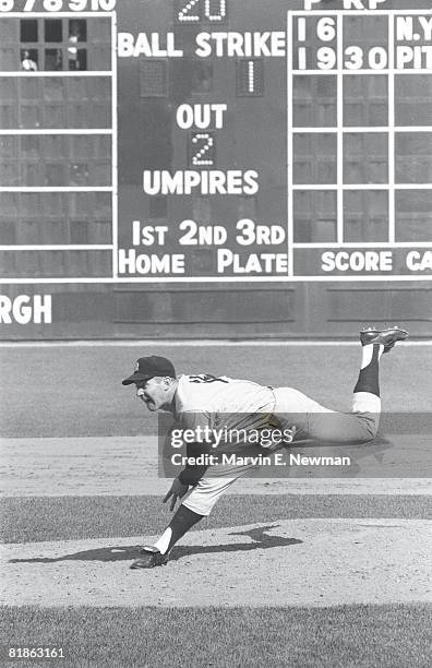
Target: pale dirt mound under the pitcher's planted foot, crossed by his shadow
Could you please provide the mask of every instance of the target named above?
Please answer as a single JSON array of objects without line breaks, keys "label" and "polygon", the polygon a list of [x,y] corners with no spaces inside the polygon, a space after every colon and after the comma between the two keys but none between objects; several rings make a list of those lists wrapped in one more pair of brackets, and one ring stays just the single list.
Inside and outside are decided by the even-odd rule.
[{"label": "pale dirt mound under the pitcher's planted foot, crossed by his shadow", "polygon": [[[431,523],[291,520],[194,532],[172,561],[131,571],[154,537],[8,545],[13,606],[332,606],[431,600]],[[407,558],[409,556],[409,558]]]}]

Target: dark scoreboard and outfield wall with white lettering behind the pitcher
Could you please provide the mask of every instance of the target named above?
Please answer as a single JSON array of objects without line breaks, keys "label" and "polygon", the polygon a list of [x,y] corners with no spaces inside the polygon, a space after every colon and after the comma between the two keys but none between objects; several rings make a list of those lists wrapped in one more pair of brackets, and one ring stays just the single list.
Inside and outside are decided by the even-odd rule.
[{"label": "dark scoreboard and outfield wall with white lettering behind the pitcher", "polygon": [[0,1],[0,337],[430,335],[407,4]]}]

